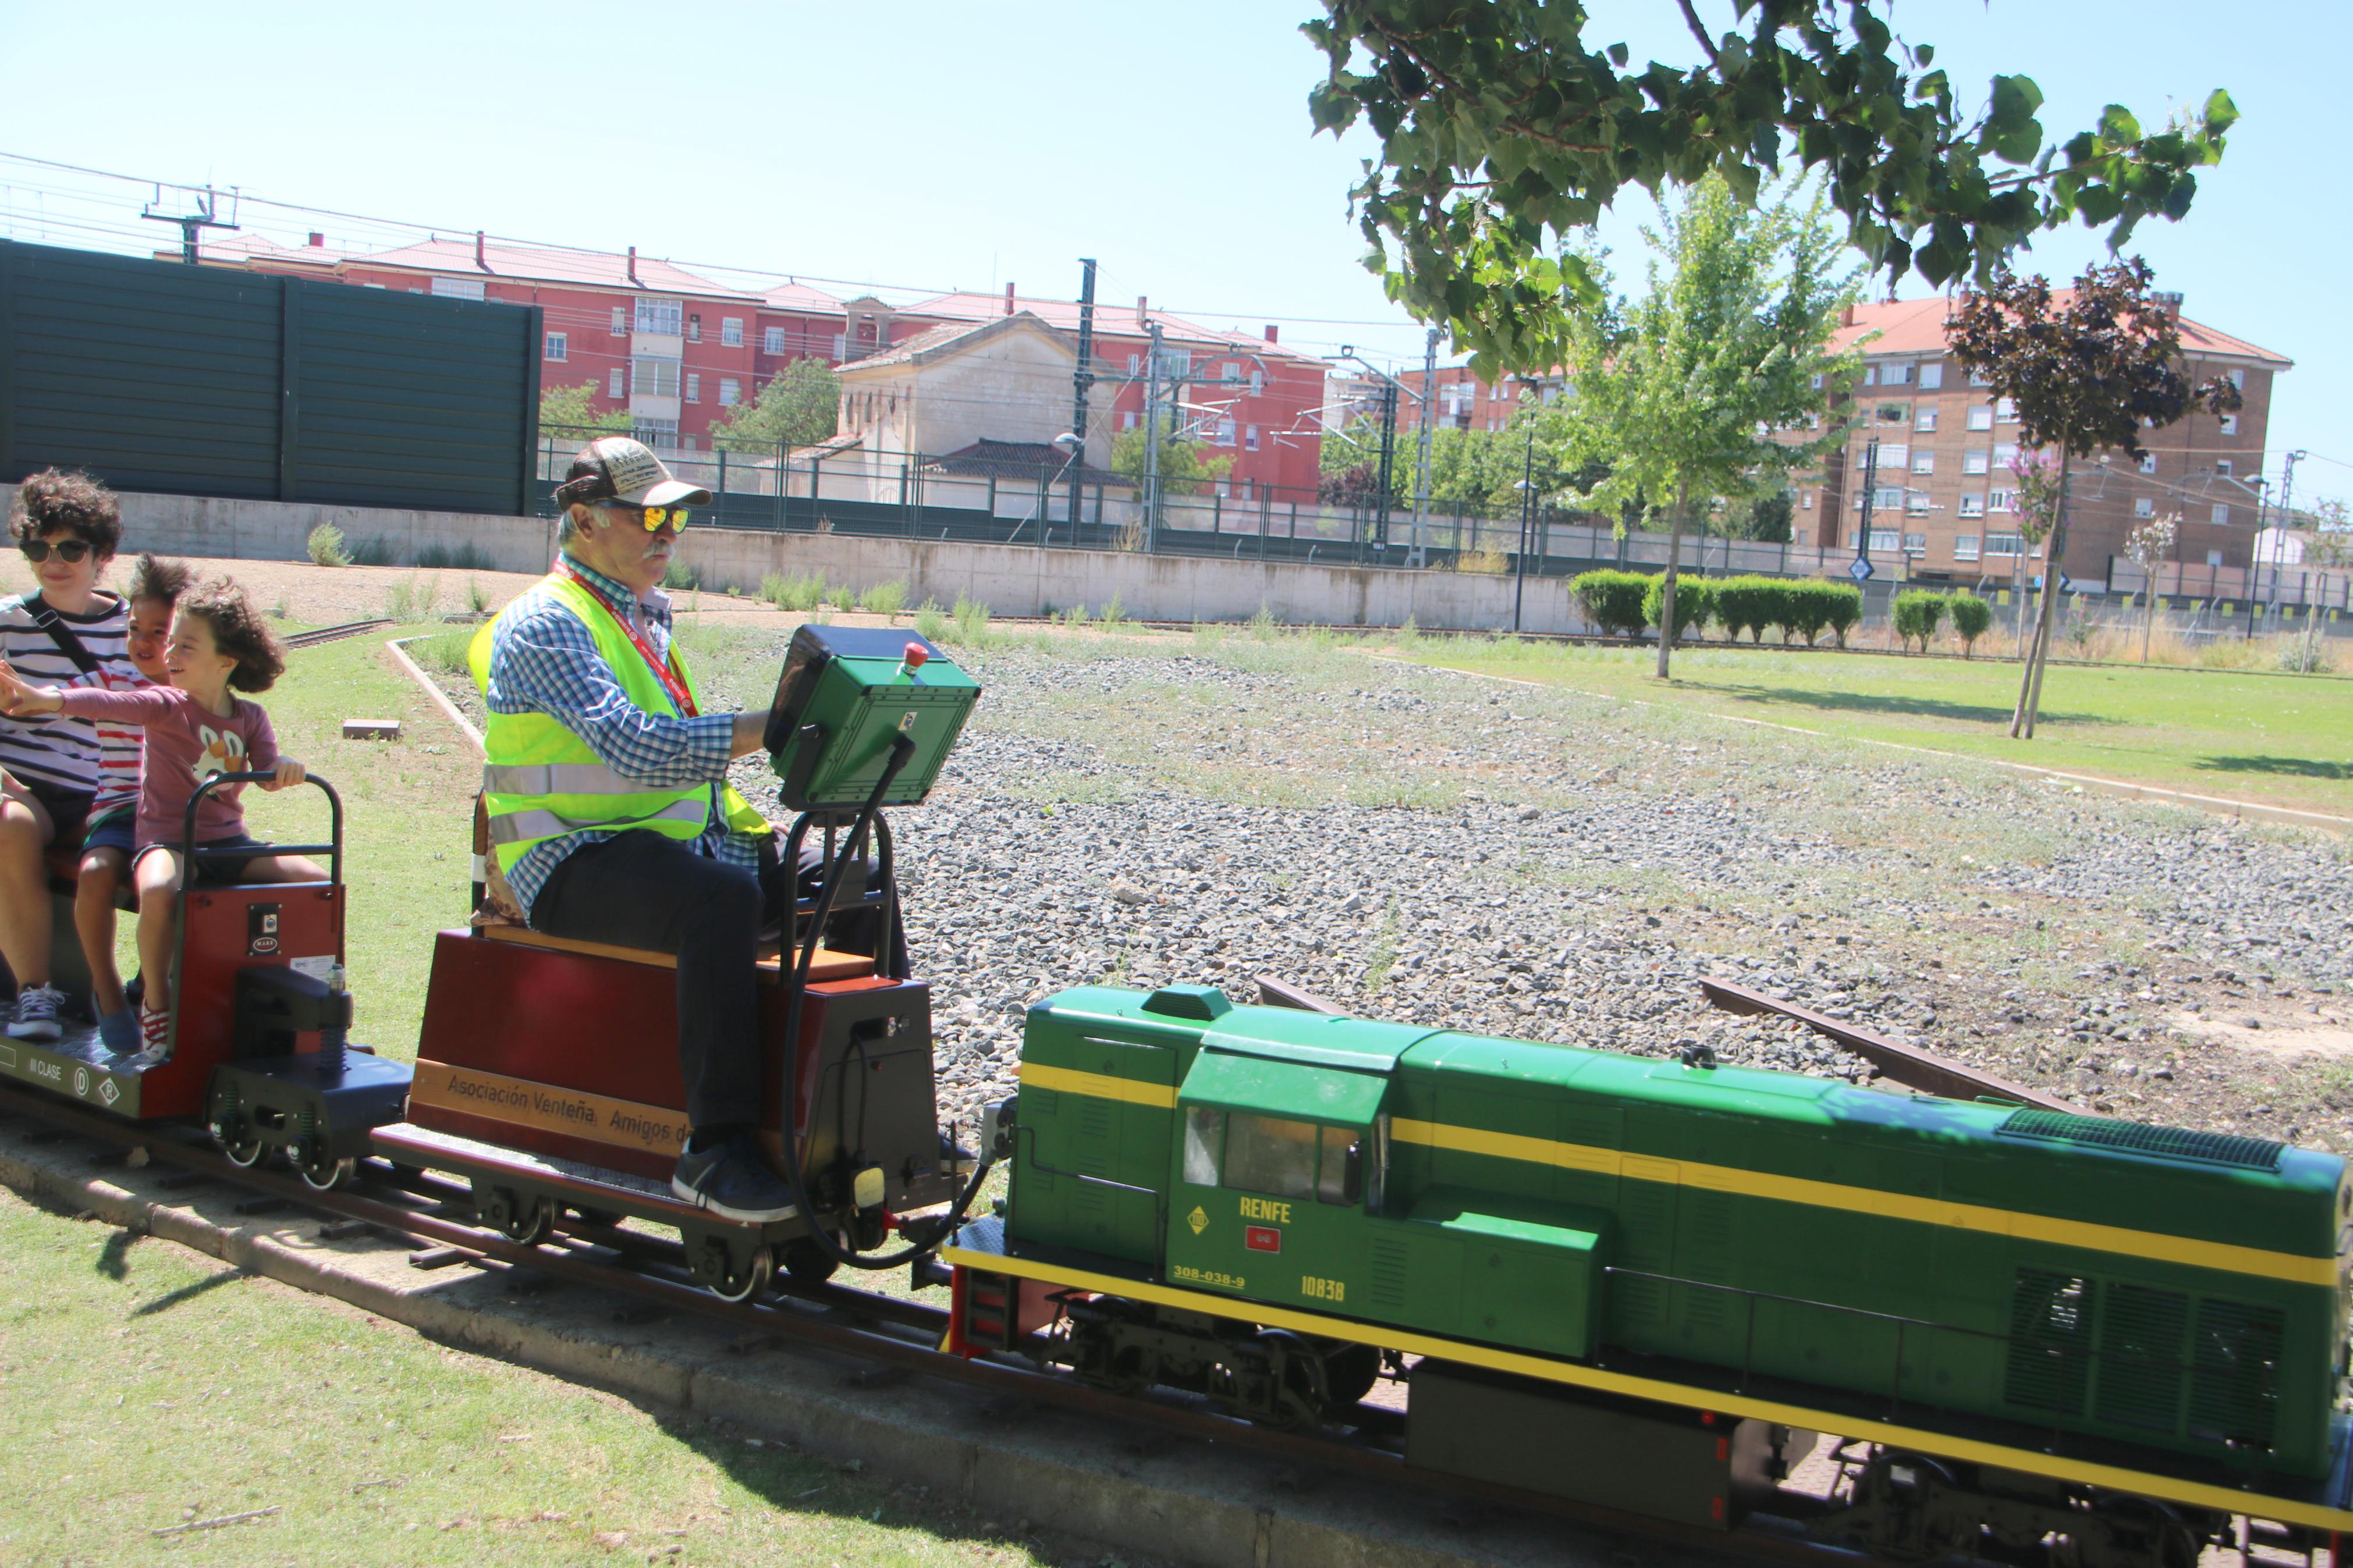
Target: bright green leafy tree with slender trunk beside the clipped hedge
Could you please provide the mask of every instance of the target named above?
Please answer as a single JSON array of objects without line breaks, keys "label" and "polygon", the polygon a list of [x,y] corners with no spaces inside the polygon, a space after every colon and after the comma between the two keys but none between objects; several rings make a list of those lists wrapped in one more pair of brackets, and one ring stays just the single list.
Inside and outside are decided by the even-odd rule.
[{"label": "bright green leafy tree with slender trunk beside the clipped hedge", "polygon": [[[1673,618],[1694,498],[1774,491],[1793,470],[1819,465],[1845,433],[1800,435],[1861,357],[1828,346],[1854,280],[1835,266],[1838,237],[1819,197],[1751,209],[1708,174],[1645,240],[1649,294],[1577,317],[1577,395],[1565,421],[1579,449],[1609,454],[1588,503],[1617,512],[1668,501],[1659,590]],[[1673,646],[1659,639],[1659,679]]]}]

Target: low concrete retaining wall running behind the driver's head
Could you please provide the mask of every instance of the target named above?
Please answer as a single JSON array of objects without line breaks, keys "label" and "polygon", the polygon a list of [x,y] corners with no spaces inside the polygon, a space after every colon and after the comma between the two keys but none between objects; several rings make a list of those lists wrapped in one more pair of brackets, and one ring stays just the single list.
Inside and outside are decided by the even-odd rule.
[{"label": "low concrete retaining wall running behind the driver's head", "polygon": [[[14,489],[7,489],[14,498]],[[541,571],[555,555],[544,517],[471,512],[388,512],[287,501],[122,496],[122,550],[304,559],[311,529],[332,522],[348,543],[381,538],[395,562],[426,548],[473,545],[501,571]],[[1294,625],[1402,625],[1499,630],[1511,625],[1513,581],[1457,571],[1395,571],[1297,562],[1129,555],[864,534],[755,534],[694,527],[680,559],[713,588],[758,592],[769,571],[824,571],[868,588],[904,581],[906,602],[955,604],[969,595],[1000,616],[1040,616],[1113,597],[1136,621],[1249,621],[1266,609]],[[1522,625],[1532,632],[1591,630],[1574,614],[1567,583],[1529,578]]]}]

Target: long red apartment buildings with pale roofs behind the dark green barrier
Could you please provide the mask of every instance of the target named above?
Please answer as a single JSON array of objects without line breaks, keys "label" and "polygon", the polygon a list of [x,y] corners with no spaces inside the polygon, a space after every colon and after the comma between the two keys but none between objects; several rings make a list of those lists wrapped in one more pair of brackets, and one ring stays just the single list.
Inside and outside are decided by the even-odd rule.
[{"label": "long red apartment buildings with pale roofs behind the dark green barrier", "polygon": [[[176,259],[176,252],[158,252]],[[788,282],[746,294],[668,261],[558,247],[494,244],[480,235],[426,240],[391,252],[275,244],[259,235],[205,242],[207,266],[325,277],[369,289],[539,306],[546,317],[541,386],[591,388],[591,409],[626,411],[640,437],[664,449],[708,449],[711,425],[793,360],[845,364],[946,322],[1031,310],[1075,339],[1078,306],[998,294],[941,294],[894,308],[835,299]],[[1162,376],[1186,376],[1184,414],[1195,440],[1233,456],[1224,489],[1313,494],[1322,451],[1318,409],[1325,362],[1264,336],[1200,327],[1167,310],[1096,306],[1089,400],[1096,433],[1134,428],[1144,409],[1148,324],[1160,324]],[[1071,388],[1040,388],[1068,414]],[[936,454],[934,454],[936,456]]]}]

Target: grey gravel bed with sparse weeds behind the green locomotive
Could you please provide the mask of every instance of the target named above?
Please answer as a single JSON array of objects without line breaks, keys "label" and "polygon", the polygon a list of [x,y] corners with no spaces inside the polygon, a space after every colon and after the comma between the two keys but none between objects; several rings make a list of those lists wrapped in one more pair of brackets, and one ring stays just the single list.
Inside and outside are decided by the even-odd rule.
[{"label": "grey gravel bed with sparse weeds behind the green locomotive", "polygon": [[[779,651],[746,637],[729,689],[765,696]],[[955,656],[981,710],[894,813],[948,1114],[1012,1088],[1045,994],[1254,1001],[1259,973],[1374,1018],[1873,1081],[1713,1011],[1694,980],[1725,976],[2085,1110],[2353,1147],[2353,898],[2322,835],[1329,639]],[[779,811],[765,759],[736,780]]]}]

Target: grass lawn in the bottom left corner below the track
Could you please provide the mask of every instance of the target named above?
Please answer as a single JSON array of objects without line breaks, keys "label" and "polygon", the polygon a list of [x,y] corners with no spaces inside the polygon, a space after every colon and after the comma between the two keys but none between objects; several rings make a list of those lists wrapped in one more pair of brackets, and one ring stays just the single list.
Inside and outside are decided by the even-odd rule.
[{"label": "grass lawn in the bottom left corner below the track", "polygon": [[7,1192],[0,1387],[5,1563],[1045,1561],[871,1476]]}]

